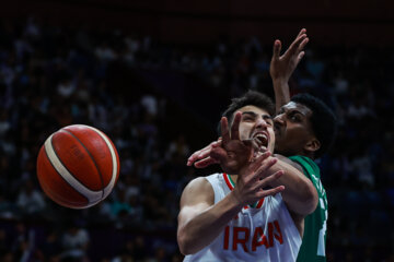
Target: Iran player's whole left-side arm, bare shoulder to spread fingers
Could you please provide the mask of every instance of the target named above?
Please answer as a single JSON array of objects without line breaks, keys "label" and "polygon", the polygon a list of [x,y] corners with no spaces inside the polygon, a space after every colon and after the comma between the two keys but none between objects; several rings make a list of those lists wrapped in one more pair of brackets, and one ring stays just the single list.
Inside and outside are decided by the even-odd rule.
[{"label": "Iran player's whole left-side arm, bare shoulder to spread fingers", "polygon": [[262,189],[282,175],[281,171],[267,171],[276,162],[265,160],[268,156],[269,154],[262,155],[245,167],[234,190],[216,204],[213,189],[205,178],[197,178],[185,188],[181,198],[177,228],[177,241],[183,254],[196,253],[212,242],[247,203],[285,189]]}]

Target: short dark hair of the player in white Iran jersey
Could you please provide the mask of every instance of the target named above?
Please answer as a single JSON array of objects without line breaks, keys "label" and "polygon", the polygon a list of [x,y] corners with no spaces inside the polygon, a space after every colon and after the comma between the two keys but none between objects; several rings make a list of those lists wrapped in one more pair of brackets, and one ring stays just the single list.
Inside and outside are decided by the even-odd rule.
[{"label": "short dark hair of the player in white Iran jersey", "polygon": [[[247,91],[243,96],[231,99],[231,104],[222,114],[222,117],[227,117],[229,123],[231,123],[234,112],[244,106],[255,106],[262,108],[270,116],[274,116],[275,114],[275,104],[271,98],[256,91]],[[220,121],[218,124],[218,133],[221,135]]]}]

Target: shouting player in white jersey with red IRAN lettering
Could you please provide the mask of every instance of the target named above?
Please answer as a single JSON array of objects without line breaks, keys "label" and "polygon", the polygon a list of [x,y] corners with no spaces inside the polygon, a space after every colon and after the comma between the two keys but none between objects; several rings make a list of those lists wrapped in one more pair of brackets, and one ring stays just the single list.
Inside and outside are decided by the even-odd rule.
[{"label": "shouting player in white jersey with red IRAN lettering", "polygon": [[222,140],[210,153],[227,172],[193,180],[181,198],[185,261],[296,261],[317,194],[299,170],[270,156],[273,112],[267,96],[248,92],[223,114]]}]

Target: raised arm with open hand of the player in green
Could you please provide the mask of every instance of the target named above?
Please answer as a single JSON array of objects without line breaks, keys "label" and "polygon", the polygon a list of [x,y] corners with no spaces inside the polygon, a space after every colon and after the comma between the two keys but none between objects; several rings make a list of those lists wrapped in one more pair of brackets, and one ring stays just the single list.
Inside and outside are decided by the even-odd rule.
[{"label": "raised arm with open hand of the player in green", "polygon": [[277,111],[290,100],[289,79],[305,55],[303,49],[308,41],[306,29],[302,28],[282,56],[280,56],[281,41],[277,39],[274,43],[269,74],[273,79]]}]

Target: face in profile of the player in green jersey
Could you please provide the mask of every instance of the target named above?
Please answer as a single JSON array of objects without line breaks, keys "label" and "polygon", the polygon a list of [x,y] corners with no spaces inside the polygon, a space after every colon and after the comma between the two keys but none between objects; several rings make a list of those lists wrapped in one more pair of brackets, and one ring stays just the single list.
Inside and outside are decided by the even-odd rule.
[{"label": "face in profile of the player in green jersey", "polygon": [[310,117],[312,110],[290,102],[280,108],[274,118],[275,151],[285,156],[302,154],[313,135]]}]

